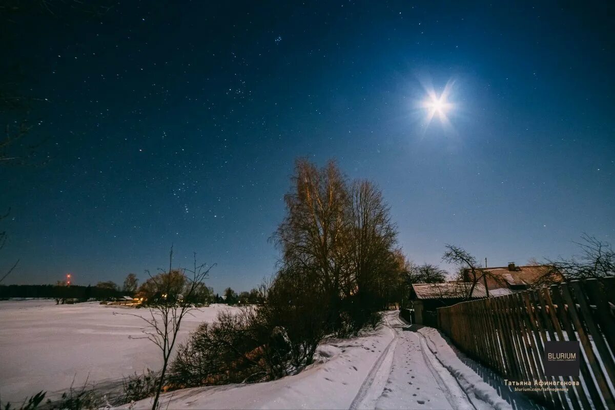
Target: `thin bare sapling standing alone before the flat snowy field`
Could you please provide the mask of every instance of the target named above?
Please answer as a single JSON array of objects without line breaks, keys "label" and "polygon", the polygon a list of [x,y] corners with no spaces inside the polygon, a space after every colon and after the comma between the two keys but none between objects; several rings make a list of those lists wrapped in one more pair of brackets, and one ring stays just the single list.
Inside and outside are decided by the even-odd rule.
[{"label": "thin bare sapling standing alone before the flat snowy field", "polygon": [[[165,376],[169,359],[173,352],[177,335],[180,331],[181,321],[190,314],[192,310],[198,310],[192,304],[194,294],[200,288],[210,270],[216,266],[213,264],[197,264],[196,253],[194,254],[194,267],[192,269],[182,268],[173,269],[173,247],[169,252],[169,271],[167,273],[152,276],[151,280],[156,288],[159,297],[149,302],[149,315],[141,316],[133,313],[117,313],[136,316],[145,321],[146,326],[142,329],[143,339],[153,342],[162,353],[162,370],[156,388],[156,396],[152,404],[152,410],[158,408],[158,401],[162,387],[164,387]],[[149,272],[148,272],[149,274]],[[181,275],[181,280],[178,280]]]}]

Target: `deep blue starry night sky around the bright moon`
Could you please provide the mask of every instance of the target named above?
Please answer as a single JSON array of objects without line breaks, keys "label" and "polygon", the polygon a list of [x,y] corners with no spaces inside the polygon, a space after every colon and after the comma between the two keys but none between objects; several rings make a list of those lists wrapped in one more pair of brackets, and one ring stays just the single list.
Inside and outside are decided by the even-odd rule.
[{"label": "deep blue starry night sky around the bright moon", "polygon": [[[218,4],[221,3],[221,4]],[[463,3],[463,4],[461,4]],[[611,6],[554,2],[118,2],[8,26],[38,98],[41,166],[2,167],[6,283],[121,283],[216,262],[275,271],[293,161],[379,184],[416,262],[490,266],[615,237]],[[16,68],[17,69],[17,68]],[[427,121],[448,84],[446,119]]]}]

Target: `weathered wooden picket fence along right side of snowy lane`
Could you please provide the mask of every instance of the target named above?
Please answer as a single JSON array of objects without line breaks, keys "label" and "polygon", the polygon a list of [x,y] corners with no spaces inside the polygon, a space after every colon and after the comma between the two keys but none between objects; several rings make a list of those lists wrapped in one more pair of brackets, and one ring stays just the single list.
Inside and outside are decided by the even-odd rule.
[{"label": "weathered wooden picket fence along right side of snowy lane", "polygon": [[[470,357],[555,409],[615,409],[615,278],[573,280],[542,290],[437,309],[438,327]],[[579,341],[579,377],[545,376],[544,342]],[[563,385],[561,385],[563,384]],[[578,384],[578,385],[576,385]],[[568,388],[567,391],[554,391]]]}]

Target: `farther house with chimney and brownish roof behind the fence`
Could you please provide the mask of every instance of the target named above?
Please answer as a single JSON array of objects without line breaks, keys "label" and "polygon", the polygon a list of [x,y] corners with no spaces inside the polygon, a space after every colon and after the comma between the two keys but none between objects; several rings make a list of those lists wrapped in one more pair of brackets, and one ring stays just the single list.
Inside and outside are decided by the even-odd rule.
[{"label": "farther house with chimney and brownish roof behind the fence", "polygon": [[[483,281],[486,280],[489,296],[502,296],[527,290],[546,272],[554,275],[554,280],[558,282],[563,280],[561,274],[554,273],[552,267],[548,265],[516,266],[515,262],[510,262],[508,266],[484,267],[477,270],[480,270],[481,274],[485,270],[490,272],[490,275],[480,279],[480,283],[483,283],[483,285]],[[470,269],[464,269],[463,275],[465,282],[472,282]]]}]

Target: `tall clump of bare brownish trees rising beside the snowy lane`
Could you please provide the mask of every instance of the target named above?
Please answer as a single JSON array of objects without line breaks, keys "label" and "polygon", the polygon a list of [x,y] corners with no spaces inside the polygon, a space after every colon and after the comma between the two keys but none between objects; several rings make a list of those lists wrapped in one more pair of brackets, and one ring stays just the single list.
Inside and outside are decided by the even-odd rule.
[{"label": "tall clump of bare brownish trees rising beside the snowy lane", "polygon": [[282,251],[273,287],[309,283],[313,300],[326,301],[333,329],[397,298],[397,230],[375,184],[349,184],[335,162],[318,168],[306,159],[296,160],[292,184],[272,237]]}]

